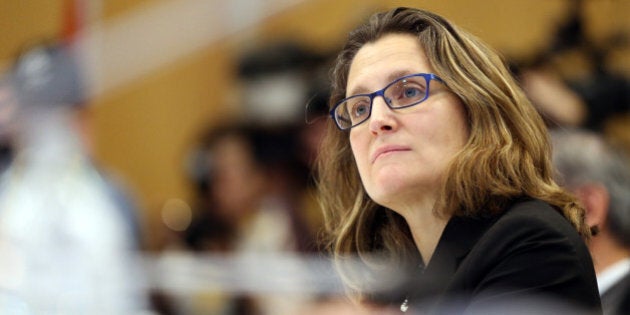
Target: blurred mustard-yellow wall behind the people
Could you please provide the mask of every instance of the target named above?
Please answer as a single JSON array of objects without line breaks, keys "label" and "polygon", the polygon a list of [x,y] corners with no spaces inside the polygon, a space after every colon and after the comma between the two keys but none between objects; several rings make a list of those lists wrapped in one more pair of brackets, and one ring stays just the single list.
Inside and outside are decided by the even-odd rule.
[{"label": "blurred mustard-yellow wall behind the people", "polygon": [[[254,0],[252,0],[254,1]],[[105,0],[111,20],[154,0]],[[586,1],[589,32],[602,37],[630,30],[628,0]],[[0,66],[25,41],[52,36],[61,29],[64,1],[0,1]],[[217,3],[221,3],[218,1]],[[232,71],[240,49],[278,38],[293,38],[317,50],[336,49],[373,8],[420,5],[452,19],[510,56],[527,56],[543,47],[566,14],[564,0],[311,0],[273,18],[173,60],[111,93],[91,108],[97,160],[137,192],[148,217],[169,198],[186,199],[185,150],[207,124],[237,112],[230,102]],[[159,52],[156,52],[159,53]],[[619,53],[619,69],[630,73],[628,54]]]}]

